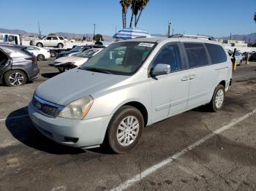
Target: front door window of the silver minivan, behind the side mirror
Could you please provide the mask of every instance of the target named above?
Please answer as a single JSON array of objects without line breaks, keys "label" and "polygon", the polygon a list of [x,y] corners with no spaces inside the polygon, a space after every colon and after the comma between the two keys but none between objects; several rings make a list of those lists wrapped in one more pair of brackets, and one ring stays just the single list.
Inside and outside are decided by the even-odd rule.
[{"label": "front door window of the silver minivan, behind the side mirror", "polygon": [[162,50],[160,50],[157,57],[154,59],[152,67],[154,68],[154,66],[157,66],[159,63],[170,65],[171,71],[185,69],[181,62],[181,54],[177,44],[166,45]]}]

